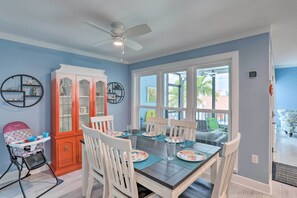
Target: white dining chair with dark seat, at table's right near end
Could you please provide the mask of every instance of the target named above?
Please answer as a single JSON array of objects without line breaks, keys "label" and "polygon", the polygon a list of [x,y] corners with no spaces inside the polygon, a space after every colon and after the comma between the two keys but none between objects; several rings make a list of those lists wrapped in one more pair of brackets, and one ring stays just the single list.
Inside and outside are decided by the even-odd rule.
[{"label": "white dining chair with dark seat, at table's right near end", "polygon": [[229,185],[231,183],[234,163],[236,160],[238,146],[240,143],[240,133],[237,137],[224,144],[222,159],[214,185],[203,179],[196,180],[189,188],[183,192],[179,198],[226,198],[229,197]]}]

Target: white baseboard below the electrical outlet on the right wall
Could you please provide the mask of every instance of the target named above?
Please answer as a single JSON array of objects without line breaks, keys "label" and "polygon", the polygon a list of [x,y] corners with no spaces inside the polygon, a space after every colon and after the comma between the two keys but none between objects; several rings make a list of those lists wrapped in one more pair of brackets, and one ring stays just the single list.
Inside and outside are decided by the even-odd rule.
[{"label": "white baseboard below the electrical outlet on the right wall", "polygon": [[236,183],[238,185],[253,189],[255,191],[258,192],[262,192],[265,193],[267,195],[271,195],[271,185],[269,184],[265,184],[262,182],[258,182],[256,180],[247,178],[247,177],[243,177],[237,174],[233,174],[232,176],[232,182]]}]

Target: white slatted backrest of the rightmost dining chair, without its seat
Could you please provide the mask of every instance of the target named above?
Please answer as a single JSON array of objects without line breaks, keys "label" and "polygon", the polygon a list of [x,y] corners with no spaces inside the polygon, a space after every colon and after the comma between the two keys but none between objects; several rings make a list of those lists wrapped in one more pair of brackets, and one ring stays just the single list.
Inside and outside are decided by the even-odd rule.
[{"label": "white slatted backrest of the rightmost dining chair, without its seat", "polygon": [[240,138],[241,135],[238,133],[234,140],[225,143],[223,146],[221,164],[211,195],[212,198],[224,197],[228,193]]}]

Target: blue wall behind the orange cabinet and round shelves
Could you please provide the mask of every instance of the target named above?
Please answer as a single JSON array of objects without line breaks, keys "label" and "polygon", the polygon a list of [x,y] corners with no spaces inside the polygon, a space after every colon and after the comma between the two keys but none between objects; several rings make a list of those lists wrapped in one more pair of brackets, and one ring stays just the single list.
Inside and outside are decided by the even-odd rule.
[{"label": "blue wall behind the orange cabinet and round shelves", "polygon": [[[34,134],[51,130],[50,73],[61,63],[103,69],[108,82],[120,82],[130,92],[127,65],[0,39],[0,83],[15,74],[28,74],[40,80],[45,90],[41,102],[30,108],[12,107],[0,98],[0,133],[5,124],[16,120],[26,122]],[[108,104],[108,113],[115,116],[115,128],[118,130],[126,129],[129,121],[129,117],[123,116],[129,112],[128,96],[120,104]],[[0,136],[1,174],[8,167],[9,158],[2,134]],[[46,145],[46,156],[50,160],[50,143]]]}]

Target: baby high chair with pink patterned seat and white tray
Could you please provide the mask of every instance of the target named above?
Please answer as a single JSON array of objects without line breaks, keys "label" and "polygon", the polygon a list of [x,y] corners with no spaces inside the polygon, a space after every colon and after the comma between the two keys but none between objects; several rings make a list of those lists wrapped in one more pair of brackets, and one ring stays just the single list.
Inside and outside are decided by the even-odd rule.
[{"label": "baby high chair with pink patterned seat and white tray", "polygon": [[[57,178],[56,174],[47,163],[44,156],[44,142],[48,141],[50,137],[34,137],[31,133],[30,128],[25,123],[20,121],[6,124],[3,128],[3,136],[8,149],[8,153],[10,155],[10,165],[7,170],[1,175],[0,180],[10,170],[12,164],[17,167],[19,174],[18,180],[1,187],[0,190],[7,186],[10,186],[11,184],[19,182],[22,194],[24,197],[26,197],[21,180],[30,176],[31,170],[40,168],[43,165],[47,165],[49,167],[52,176],[56,179],[56,184],[45,192],[41,193],[38,197],[44,195],[63,182],[63,180]],[[30,137],[31,139],[33,138],[33,140],[34,138],[36,138],[36,140],[28,142],[28,140],[30,140]],[[24,177],[21,177],[24,164],[26,165],[28,172]]]}]

